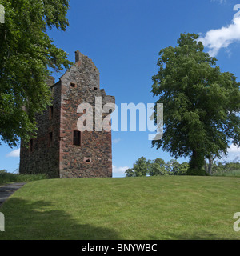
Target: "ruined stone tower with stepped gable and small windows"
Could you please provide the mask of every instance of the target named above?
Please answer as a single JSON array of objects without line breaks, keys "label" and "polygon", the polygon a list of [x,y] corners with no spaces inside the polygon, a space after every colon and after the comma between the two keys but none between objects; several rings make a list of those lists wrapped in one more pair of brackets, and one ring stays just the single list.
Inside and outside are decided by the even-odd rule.
[{"label": "ruined stone tower with stepped gable and small windows", "polygon": [[[53,104],[37,117],[37,138],[30,140],[28,149],[21,146],[20,174],[44,173],[50,178],[112,177],[111,131],[79,131],[78,118],[84,111],[77,110],[80,104],[89,103],[94,116],[96,97],[101,99],[102,106],[114,103],[115,98],[100,90],[99,71],[90,58],[76,51],[75,59],[74,66],[58,82],[54,78],[49,80]],[[101,121],[109,113],[102,114]]]}]

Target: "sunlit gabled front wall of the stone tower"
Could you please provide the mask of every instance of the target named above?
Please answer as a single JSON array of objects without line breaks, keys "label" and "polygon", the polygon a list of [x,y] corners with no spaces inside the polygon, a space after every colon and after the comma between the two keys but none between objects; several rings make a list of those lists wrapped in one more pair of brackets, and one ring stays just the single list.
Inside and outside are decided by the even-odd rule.
[{"label": "sunlit gabled front wall of the stone tower", "polygon": [[81,132],[81,146],[73,145],[73,132],[82,115],[77,113],[78,105],[87,102],[94,108],[96,96],[114,103],[114,97],[100,90],[99,71],[90,58],[76,52],[76,61],[61,78],[60,177],[112,177],[111,132]]}]

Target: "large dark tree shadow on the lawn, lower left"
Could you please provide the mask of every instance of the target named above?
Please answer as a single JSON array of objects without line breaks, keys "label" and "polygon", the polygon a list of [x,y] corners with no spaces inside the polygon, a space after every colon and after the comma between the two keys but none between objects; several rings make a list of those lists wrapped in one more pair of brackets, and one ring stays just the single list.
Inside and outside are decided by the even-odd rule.
[{"label": "large dark tree shadow on the lawn, lower left", "polygon": [[64,210],[51,210],[53,202],[28,202],[10,198],[0,211],[5,214],[5,232],[0,240],[119,240],[114,230],[76,222]]}]

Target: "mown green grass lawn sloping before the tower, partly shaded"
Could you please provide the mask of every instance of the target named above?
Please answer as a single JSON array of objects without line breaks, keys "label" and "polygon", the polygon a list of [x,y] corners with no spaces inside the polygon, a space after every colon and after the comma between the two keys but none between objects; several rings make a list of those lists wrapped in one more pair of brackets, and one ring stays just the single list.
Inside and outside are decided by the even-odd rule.
[{"label": "mown green grass lawn sloping before the tower, partly shaded", "polygon": [[0,208],[0,239],[239,239],[240,178],[28,182]]}]

